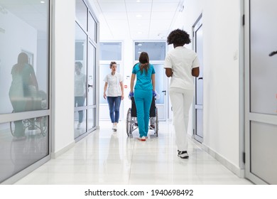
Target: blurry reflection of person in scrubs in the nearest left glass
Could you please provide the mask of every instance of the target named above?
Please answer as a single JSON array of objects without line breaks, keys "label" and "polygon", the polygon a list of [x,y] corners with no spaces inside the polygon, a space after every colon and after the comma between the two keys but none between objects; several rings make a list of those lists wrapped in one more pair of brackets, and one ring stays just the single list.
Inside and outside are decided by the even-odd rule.
[{"label": "blurry reflection of person in scrubs in the nearest left glass", "polygon": [[[9,97],[13,106],[13,112],[25,112],[33,109],[33,99],[38,93],[38,82],[33,67],[28,64],[28,55],[20,53],[18,63],[11,69],[11,87]],[[14,122],[15,139],[24,139],[25,129],[22,121]]]}]

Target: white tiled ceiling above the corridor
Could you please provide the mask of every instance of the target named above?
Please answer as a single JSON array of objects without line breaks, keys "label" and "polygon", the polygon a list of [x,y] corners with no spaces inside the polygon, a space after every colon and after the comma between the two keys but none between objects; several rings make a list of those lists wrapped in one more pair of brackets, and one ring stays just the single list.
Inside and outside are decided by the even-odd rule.
[{"label": "white tiled ceiling above the corridor", "polygon": [[100,41],[165,39],[184,0],[93,0]]}]

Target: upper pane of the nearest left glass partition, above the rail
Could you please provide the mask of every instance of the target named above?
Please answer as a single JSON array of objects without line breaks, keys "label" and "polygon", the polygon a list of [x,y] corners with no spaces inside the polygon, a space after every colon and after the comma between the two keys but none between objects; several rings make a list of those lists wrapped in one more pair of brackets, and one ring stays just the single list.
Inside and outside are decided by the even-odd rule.
[{"label": "upper pane of the nearest left glass partition, above the rail", "polygon": [[48,109],[48,1],[20,12],[9,2],[0,4],[0,114]]}]

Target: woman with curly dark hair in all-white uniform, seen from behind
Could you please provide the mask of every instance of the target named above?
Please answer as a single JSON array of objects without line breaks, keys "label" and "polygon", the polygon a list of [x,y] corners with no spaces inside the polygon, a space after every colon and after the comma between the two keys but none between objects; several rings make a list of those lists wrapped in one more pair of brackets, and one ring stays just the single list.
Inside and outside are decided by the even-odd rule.
[{"label": "woman with curly dark hair in all-white uniform, seen from behind", "polygon": [[174,48],[166,55],[164,68],[165,75],[171,77],[169,95],[178,156],[188,158],[188,117],[194,94],[193,77],[199,75],[199,60],[194,51],[183,46],[190,43],[190,35],[185,31],[172,31],[167,42]]}]

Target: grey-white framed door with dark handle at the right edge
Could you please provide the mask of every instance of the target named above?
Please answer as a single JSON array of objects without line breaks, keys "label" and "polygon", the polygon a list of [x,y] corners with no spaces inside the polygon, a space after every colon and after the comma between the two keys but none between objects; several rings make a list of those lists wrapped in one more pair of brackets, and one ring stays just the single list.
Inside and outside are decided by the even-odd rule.
[{"label": "grey-white framed door with dark handle at the right edge", "polygon": [[277,1],[245,2],[246,178],[277,184]]}]

